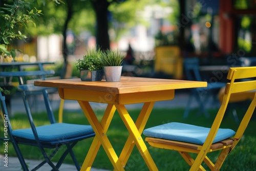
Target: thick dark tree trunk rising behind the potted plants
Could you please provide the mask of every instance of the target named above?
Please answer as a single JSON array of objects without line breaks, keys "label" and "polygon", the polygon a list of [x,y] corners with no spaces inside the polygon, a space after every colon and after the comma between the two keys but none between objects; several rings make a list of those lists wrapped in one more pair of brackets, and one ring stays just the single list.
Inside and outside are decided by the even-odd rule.
[{"label": "thick dark tree trunk rising behind the potted plants", "polygon": [[91,0],[96,14],[96,45],[101,50],[110,49],[107,0]]}]

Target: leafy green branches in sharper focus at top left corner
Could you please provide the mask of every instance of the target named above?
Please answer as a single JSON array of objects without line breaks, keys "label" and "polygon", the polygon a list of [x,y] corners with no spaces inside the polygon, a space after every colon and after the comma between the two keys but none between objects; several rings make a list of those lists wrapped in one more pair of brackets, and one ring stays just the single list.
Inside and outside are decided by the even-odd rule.
[{"label": "leafy green branches in sharper focus at top left corner", "polygon": [[32,23],[35,27],[33,19],[41,15],[41,10],[31,8],[31,2],[22,0],[3,1],[3,3],[1,3],[0,55],[15,59],[15,49],[8,49],[7,46],[14,39],[27,38],[20,28],[26,28],[28,23]]}]

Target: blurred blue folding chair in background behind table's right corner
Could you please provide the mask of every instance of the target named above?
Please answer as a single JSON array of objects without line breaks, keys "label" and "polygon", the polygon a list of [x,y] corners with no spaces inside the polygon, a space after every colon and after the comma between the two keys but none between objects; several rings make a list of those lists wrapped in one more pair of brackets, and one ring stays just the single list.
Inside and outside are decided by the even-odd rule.
[{"label": "blurred blue folding chair in background behind table's right corner", "polygon": [[[198,57],[184,58],[183,64],[184,71],[188,80],[203,81],[199,72]],[[190,111],[191,102],[193,98],[195,98],[199,104],[199,114],[204,113],[205,117],[208,118],[209,113],[205,109],[205,104],[210,98],[212,98],[214,102],[218,102],[217,92],[225,86],[226,83],[224,82],[209,82],[207,88],[190,89],[190,94],[183,117],[187,118]]]}]

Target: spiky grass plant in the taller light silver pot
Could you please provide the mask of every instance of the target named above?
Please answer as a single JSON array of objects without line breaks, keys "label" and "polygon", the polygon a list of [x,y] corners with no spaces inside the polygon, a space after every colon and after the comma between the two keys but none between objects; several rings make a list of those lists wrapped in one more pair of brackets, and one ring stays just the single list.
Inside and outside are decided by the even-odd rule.
[{"label": "spiky grass plant in the taller light silver pot", "polygon": [[102,53],[100,59],[106,81],[120,81],[123,58],[124,55],[118,50],[106,50]]}]

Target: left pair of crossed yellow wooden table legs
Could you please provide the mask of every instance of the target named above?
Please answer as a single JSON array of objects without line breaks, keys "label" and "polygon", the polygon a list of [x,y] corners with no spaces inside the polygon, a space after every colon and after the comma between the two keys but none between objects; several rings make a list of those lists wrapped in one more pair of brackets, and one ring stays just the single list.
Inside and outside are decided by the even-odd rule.
[{"label": "left pair of crossed yellow wooden table legs", "polygon": [[105,112],[105,114],[101,120],[101,124],[100,124],[88,101],[78,101],[78,103],[80,104],[84,115],[86,115],[88,121],[90,122],[90,124],[93,127],[93,130],[95,132],[95,138],[91,145],[92,148],[89,149],[88,155],[83,162],[81,170],[88,170],[91,168],[91,165],[95,159],[95,156],[96,156],[99,146],[100,146],[99,142],[103,146],[103,148],[106,152],[106,155],[108,155],[114,168],[116,170],[124,170],[124,168],[121,165],[121,162],[119,161],[119,159],[114,151],[114,148],[112,147],[108,137],[105,135],[106,131],[109,128],[109,125],[110,125],[110,122],[114,115],[114,112],[115,112],[115,108],[113,108],[113,104],[108,105],[108,108],[106,109],[106,112]]}]

